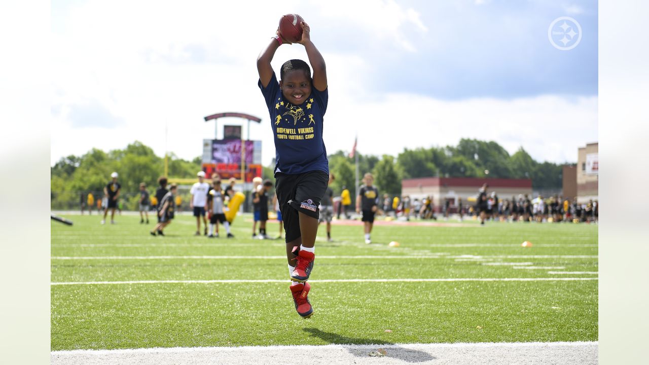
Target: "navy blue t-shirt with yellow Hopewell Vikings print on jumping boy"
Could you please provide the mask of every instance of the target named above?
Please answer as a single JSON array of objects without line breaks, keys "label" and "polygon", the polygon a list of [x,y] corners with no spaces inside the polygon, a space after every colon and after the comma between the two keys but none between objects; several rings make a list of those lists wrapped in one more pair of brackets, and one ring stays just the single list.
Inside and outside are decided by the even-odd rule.
[{"label": "navy blue t-shirt with yellow Hopewell Vikings print on jumping boy", "polygon": [[329,173],[323,141],[323,118],[329,92],[311,88],[311,95],[300,105],[284,99],[275,73],[265,88],[258,82],[271,116],[275,136],[275,173]]}]

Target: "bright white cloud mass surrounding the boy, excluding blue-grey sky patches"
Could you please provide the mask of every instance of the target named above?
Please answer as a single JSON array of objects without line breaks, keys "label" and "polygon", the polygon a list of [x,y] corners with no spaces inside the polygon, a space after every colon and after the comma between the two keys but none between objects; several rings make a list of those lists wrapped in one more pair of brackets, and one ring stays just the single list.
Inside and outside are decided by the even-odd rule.
[{"label": "bright white cloud mass surrounding the boy, excluding blue-grey sky patches", "polygon": [[[189,1],[172,7],[89,1],[61,12],[63,18],[53,19],[52,162],[92,147],[123,148],[134,140],[162,155],[165,125],[167,149],[191,159],[201,155],[202,139],[214,136],[214,122],[202,118],[237,111],[262,118],[250,135],[263,141],[262,162],[268,164],[275,149],[254,62],[281,14],[302,14],[316,44],[326,38],[319,25],[352,24],[374,34],[374,42],[385,42],[386,54],[413,50],[407,34],[427,31],[416,9],[393,0],[344,4],[260,1],[249,11],[249,3],[235,2]],[[324,127],[330,152],[349,150],[358,132],[359,150],[376,155],[455,144],[467,137],[495,140],[510,152],[523,145],[537,159],[563,161],[575,160],[576,147],[597,139],[596,97],[442,101],[382,95],[366,87],[379,77],[376,60],[353,51],[321,51],[330,85]],[[306,58],[302,46],[282,46],[273,66],[278,69],[284,60],[298,57]],[[110,110],[123,124],[114,129],[93,123],[75,127],[70,111],[88,104]]]}]

